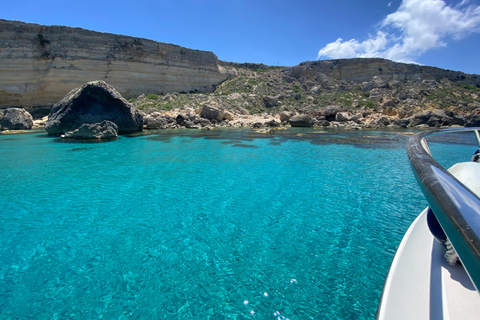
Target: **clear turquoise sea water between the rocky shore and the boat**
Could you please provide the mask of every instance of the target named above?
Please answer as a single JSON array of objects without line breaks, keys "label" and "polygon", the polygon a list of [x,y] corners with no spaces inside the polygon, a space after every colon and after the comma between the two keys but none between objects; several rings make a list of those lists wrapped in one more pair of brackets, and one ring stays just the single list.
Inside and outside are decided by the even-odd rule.
[{"label": "clear turquoise sea water between the rocky shore and the boat", "polygon": [[0,136],[0,318],[373,319],[426,206],[408,138]]}]

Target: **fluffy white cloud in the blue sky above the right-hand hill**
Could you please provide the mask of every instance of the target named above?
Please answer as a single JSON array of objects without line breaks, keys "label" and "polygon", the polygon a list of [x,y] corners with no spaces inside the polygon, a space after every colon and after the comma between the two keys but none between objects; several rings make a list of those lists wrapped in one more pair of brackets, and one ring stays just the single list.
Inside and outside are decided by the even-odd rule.
[{"label": "fluffy white cloud in the blue sky above the right-hand hill", "polygon": [[351,39],[327,44],[318,58],[380,57],[414,62],[424,52],[444,47],[480,32],[480,6],[463,0],[448,6],[443,0],[403,0],[398,10],[379,25],[379,31],[365,41]]}]

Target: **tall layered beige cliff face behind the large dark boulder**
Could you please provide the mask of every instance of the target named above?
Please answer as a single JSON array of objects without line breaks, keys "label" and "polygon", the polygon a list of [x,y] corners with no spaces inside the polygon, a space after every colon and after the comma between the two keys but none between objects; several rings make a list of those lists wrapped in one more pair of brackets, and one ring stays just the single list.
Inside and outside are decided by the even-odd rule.
[{"label": "tall layered beige cliff face behind the large dark boulder", "polygon": [[210,92],[226,77],[212,52],[0,19],[0,107],[52,105],[93,80],[108,82],[128,99]]}]

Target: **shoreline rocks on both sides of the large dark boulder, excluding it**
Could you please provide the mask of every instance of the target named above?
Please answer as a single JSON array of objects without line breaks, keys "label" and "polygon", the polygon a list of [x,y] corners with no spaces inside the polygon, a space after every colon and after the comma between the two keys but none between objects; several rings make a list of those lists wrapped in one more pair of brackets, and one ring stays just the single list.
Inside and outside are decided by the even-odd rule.
[{"label": "shoreline rocks on both sides of the large dark boulder, excluding it", "polygon": [[[142,97],[140,97],[140,100]],[[9,112],[7,112],[9,110]],[[455,113],[449,110],[423,110],[401,117],[398,111],[383,108],[381,111],[368,108],[342,108],[330,105],[319,108],[315,112],[298,113],[282,111],[280,113],[249,114],[248,111],[236,112],[222,110],[216,107],[175,108],[172,110],[157,110],[150,108],[139,110],[143,118],[143,129],[204,129],[214,128],[254,128],[268,131],[277,127],[323,127],[343,128],[347,130],[380,129],[380,128],[460,128],[480,126],[480,113],[471,115]],[[14,119],[9,116],[15,114]],[[0,110],[2,133],[23,132],[29,129],[44,128],[49,117],[33,119],[22,108]]]}]

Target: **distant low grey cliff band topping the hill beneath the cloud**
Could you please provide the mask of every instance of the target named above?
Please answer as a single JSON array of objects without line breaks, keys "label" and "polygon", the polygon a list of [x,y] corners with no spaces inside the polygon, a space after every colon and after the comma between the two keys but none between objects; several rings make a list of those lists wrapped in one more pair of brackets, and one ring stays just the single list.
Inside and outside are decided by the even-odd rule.
[{"label": "distant low grey cliff band topping the hill beneath the cloud", "polygon": [[319,74],[333,79],[355,82],[370,81],[374,76],[383,81],[421,81],[448,79],[471,85],[480,85],[480,76],[463,72],[445,70],[417,64],[398,63],[378,58],[338,59],[308,61],[285,69],[288,76],[306,80],[315,79]]}]

